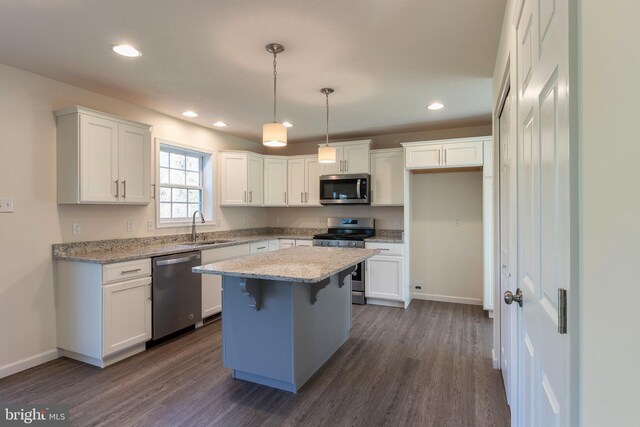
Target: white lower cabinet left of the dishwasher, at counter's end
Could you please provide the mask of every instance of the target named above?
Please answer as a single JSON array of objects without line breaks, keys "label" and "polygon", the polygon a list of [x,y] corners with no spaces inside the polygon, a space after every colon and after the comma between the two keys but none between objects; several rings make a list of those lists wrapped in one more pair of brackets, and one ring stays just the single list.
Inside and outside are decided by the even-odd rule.
[{"label": "white lower cabinet left of the dishwasher, at counter's end", "polygon": [[151,339],[151,260],[56,261],[58,348],[105,367],[144,351]]}]

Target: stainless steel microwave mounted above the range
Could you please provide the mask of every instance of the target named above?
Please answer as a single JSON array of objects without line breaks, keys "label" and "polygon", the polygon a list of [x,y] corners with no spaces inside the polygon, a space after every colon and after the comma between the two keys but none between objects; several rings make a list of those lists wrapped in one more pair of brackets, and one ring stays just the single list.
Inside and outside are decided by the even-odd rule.
[{"label": "stainless steel microwave mounted above the range", "polygon": [[368,205],[370,197],[368,173],[321,175],[320,203],[323,205]]}]

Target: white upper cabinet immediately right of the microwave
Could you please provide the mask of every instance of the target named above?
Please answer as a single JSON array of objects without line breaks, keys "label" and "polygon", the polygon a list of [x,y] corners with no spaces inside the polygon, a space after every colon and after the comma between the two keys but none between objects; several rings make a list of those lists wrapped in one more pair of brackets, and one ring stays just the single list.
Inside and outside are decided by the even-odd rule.
[{"label": "white upper cabinet immediately right of the microwave", "polygon": [[371,205],[404,204],[404,155],[402,148],[371,151]]}]

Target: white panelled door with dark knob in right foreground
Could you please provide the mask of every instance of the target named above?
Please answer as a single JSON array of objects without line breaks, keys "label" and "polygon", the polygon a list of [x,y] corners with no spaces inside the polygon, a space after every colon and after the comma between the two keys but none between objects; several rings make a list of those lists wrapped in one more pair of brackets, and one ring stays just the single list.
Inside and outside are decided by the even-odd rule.
[{"label": "white panelled door with dark knob in right foreground", "polygon": [[569,425],[569,339],[558,289],[569,292],[568,6],[525,0],[517,26],[520,425]]}]

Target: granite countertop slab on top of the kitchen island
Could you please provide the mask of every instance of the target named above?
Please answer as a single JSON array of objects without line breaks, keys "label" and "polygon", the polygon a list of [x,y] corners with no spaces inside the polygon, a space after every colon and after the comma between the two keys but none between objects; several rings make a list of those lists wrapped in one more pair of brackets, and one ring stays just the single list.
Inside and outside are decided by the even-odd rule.
[{"label": "granite countertop slab on top of the kitchen island", "polygon": [[380,253],[378,249],[296,246],[194,267],[194,273],[316,283]]}]

